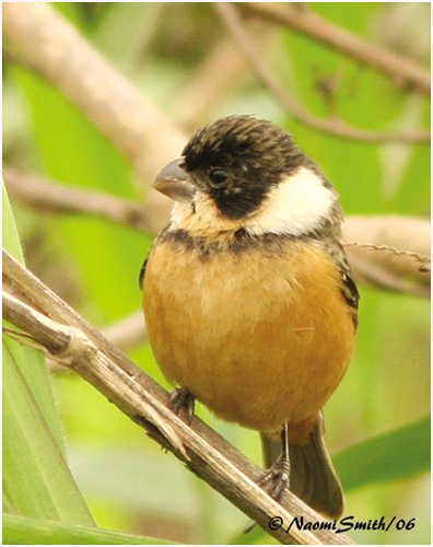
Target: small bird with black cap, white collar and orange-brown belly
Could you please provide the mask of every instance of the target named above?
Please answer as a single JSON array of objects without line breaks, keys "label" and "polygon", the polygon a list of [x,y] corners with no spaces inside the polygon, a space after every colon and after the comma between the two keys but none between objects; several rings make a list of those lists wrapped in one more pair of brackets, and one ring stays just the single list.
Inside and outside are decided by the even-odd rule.
[{"label": "small bird with black cap, white collar and orange-brown belly", "polygon": [[152,185],[174,206],[140,286],[172,408],[191,416],[197,399],[259,431],[259,484],[339,517],[323,407],[351,360],[359,292],[337,191],[290,132],[249,115],[198,130]]}]

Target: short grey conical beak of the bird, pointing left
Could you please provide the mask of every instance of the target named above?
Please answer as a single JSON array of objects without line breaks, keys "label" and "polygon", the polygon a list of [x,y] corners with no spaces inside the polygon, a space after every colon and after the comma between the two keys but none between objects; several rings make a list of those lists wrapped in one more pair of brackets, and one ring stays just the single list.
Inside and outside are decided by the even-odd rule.
[{"label": "short grey conical beak of the bird, pointing left", "polygon": [[183,156],[167,163],[155,176],[152,186],[175,201],[191,201],[197,191],[197,186],[185,171]]}]

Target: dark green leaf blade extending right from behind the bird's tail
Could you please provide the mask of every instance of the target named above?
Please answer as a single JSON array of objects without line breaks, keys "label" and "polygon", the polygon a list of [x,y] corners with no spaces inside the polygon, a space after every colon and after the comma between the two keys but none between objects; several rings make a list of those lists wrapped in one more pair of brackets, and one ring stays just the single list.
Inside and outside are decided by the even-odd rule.
[{"label": "dark green leaf blade extending right from behind the bird's tail", "polygon": [[333,457],[347,492],[417,477],[430,469],[430,417],[368,439]]}]

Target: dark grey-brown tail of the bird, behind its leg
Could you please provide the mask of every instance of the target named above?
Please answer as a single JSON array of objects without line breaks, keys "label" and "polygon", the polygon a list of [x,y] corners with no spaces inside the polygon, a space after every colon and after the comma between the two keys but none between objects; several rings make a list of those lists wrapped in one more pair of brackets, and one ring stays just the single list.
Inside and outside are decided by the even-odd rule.
[{"label": "dark grey-brown tail of the bird, behind its leg", "polygon": [[[264,459],[270,467],[281,454],[281,443],[261,433]],[[289,439],[290,442],[290,439]],[[290,490],[307,505],[330,519],[344,509],[340,481],[325,444],[323,412],[319,414],[306,444],[290,444]]]}]

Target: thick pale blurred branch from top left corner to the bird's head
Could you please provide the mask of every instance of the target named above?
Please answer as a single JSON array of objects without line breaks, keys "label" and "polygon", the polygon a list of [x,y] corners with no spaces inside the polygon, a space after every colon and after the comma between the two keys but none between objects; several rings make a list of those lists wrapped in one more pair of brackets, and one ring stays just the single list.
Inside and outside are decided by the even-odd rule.
[{"label": "thick pale blurred branch from top left corner to the bird's head", "polygon": [[[3,35],[15,59],[51,82],[131,161],[145,184],[184,148],[182,132],[45,2],[4,2]],[[162,228],[169,200],[149,196]]]}]

